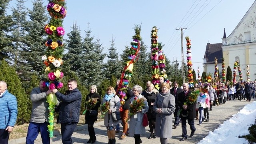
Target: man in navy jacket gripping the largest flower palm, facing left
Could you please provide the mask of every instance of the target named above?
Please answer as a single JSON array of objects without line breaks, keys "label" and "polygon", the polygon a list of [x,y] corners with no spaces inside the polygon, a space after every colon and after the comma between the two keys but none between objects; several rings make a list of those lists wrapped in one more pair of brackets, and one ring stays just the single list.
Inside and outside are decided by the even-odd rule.
[{"label": "man in navy jacket gripping the largest flower palm, facing left", "polygon": [[61,94],[57,89],[52,90],[52,92],[61,101],[58,120],[61,123],[62,143],[72,144],[71,136],[79,122],[82,94],[77,89],[75,79],[68,80],[68,90],[65,94]]}]

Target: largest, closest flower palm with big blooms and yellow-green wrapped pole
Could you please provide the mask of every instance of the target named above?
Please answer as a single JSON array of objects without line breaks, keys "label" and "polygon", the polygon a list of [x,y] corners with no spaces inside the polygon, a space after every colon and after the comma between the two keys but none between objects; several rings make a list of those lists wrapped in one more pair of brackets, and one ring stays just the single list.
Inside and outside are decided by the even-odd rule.
[{"label": "largest, closest flower palm with big blooms and yellow-green wrapped pole", "polygon": [[[44,82],[44,85],[49,89],[62,88],[63,83],[61,82],[64,73],[61,72],[62,56],[64,52],[63,47],[63,35],[65,30],[62,27],[63,18],[66,16],[66,2],[64,0],[49,0],[47,5],[47,11],[51,16],[48,24],[45,25],[44,30],[48,34],[48,38],[45,42],[47,46],[46,55],[42,56],[42,60],[46,66],[45,77],[48,79]],[[54,94],[49,94],[46,97],[49,103],[49,118],[48,118],[48,131],[50,137],[53,137],[53,124],[54,124],[54,108],[57,104],[57,98]]]}]

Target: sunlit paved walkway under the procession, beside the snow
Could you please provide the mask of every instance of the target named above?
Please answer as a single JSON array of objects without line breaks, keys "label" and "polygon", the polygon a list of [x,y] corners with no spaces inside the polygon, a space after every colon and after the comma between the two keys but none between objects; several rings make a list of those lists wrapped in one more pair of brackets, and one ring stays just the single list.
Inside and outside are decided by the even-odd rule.
[{"label": "sunlit paved walkway under the procession, beside the snow", "polygon": [[[196,144],[202,138],[208,135],[209,131],[214,131],[214,129],[218,128],[220,124],[222,124],[225,120],[228,120],[232,117],[233,114],[236,114],[241,110],[246,104],[250,104],[250,102],[246,102],[246,100],[238,101],[237,99],[234,101],[228,101],[226,104],[220,106],[213,106],[212,111],[209,111],[209,122],[203,122],[201,126],[198,125],[199,121],[195,120],[196,132],[193,137],[188,137],[187,140],[180,142],[179,139],[182,137],[181,124],[176,129],[172,130],[172,138],[168,139],[168,143],[170,144]],[[95,144],[106,144],[108,143],[108,137],[106,133],[106,127],[103,125],[103,121],[96,122],[94,124],[95,133],[96,133],[96,143]],[[172,128],[172,126],[170,126]],[[122,127],[121,127],[122,130]],[[188,135],[190,135],[190,128],[187,124]],[[121,134],[121,132],[120,132]],[[142,144],[150,143],[150,144],[160,144],[159,138],[156,139],[148,139],[150,135],[149,127],[146,127],[146,134],[141,136]],[[87,130],[87,125],[78,127],[78,130],[74,132],[72,135],[73,144],[85,144],[89,139],[89,134]],[[9,144],[24,144],[24,138],[12,140]],[[22,143],[23,141],[23,143]],[[62,144],[61,135],[56,135],[51,138],[52,144]],[[124,140],[119,139],[118,134],[116,135],[116,144],[133,144],[134,138],[127,136]],[[40,137],[36,140],[35,144],[42,144]]]}]

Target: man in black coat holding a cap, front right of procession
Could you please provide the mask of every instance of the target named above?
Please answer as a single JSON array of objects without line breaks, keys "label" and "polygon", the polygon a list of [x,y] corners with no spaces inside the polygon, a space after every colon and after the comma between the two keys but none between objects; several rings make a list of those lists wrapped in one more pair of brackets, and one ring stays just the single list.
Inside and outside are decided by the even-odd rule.
[{"label": "man in black coat holding a cap, front right of procession", "polygon": [[194,104],[188,104],[184,105],[184,102],[186,102],[186,98],[191,94],[191,90],[188,88],[188,83],[183,83],[183,92],[180,92],[178,94],[178,106],[182,109],[180,113],[181,118],[181,128],[182,128],[182,138],[180,141],[184,141],[188,138],[187,135],[187,126],[186,126],[186,120],[188,119],[188,124],[190,125],[191,130],[191,136],[194,136],[196,128],[194,126],[194,118],[196,118],[196,103]]}]

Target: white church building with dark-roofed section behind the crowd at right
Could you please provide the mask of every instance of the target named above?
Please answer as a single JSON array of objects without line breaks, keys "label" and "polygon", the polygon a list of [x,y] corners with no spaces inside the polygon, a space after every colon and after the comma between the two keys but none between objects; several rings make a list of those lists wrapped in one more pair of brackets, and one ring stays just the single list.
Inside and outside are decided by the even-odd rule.
[{"label": "white church building with dark-roofed section behind the crowd at right", "polygon": [[[217,46],[213,45],[221,45],[222,48],[222,56],[220,57],[220,53],[217,52],[221,50],[220,48],[216,48]],[[208,46],[208,44],[207,44]],[[242,71],[243,80],[247,80],[246,77],[246,66],[250,67],[250,80],[256,79],[256,2],[252,4],[250,9],[246,12],[242,20],[238,23],[233,32],[226,37],[225,31],[224,36],[222,38],[222,43],[218,44],[209,44],[209,48],[207,49],[204,56],[204,72],[206,74],[208,72],[214,74],[214,61],[212,62],[211,57],[218,58],[218,68],[221,73],[221,60],[220,58],[225,59],[225,68],[227,70],[228,66],[230,66],[233,71],[234,62],[239,60],[240,68]],[[215,48],[216,52],[212,52],[210,48]],[[209,59],[210,58],[210,59]],[[237,70],[237,78],[239,80],[239,74]],[[221,74],[220,74],[221,77]]]}]

